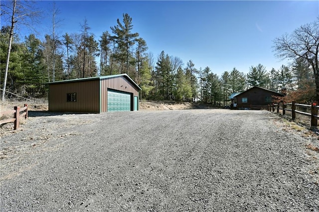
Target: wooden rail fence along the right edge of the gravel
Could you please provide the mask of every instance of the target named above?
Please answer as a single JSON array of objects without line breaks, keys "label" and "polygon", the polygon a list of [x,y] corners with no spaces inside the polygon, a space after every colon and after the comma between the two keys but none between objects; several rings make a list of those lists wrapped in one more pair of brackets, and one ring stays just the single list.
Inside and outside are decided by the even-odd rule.
[{"label": "wooden rail fence along the right edge of the gravel", "polygon": [[[291,106],[291,109],[287,108],[287,106]],[[299,111],[296,109],[296,106],[303,107],[303,108],[311,108],[311,113]],[[280,102],[278,104],[268,105],[268,111],[275,112],[275,108],[276,108],[277,113],[279,113],[279,110],[282,110],[283,115],[286,114],[286,111],[291,111],[293,120],[295,120],[295,118],[296,118],[296,113],[309,116],[309,117],[311,117],[311,126],[317,127],[317,125],[318,125],[318,120],[319,120],[318,102],[314,102],[311,105],[297,104],[295,101],[293,101],[292,103],[286,103],[286,104],[284,102]]]}]

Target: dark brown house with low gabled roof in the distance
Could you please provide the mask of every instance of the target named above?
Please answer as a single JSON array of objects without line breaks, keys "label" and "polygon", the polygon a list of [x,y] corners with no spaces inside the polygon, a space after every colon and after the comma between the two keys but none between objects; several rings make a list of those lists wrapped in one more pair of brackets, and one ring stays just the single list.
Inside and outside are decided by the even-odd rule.
[{"label": "dark brown house with low gabled roof in the distance", "polygon": [[234,95],[232,97],[232,103],[234,108],[267,106],[274,100],[273,96],[284,97],[285,95],[254,86],[247,91]]}]

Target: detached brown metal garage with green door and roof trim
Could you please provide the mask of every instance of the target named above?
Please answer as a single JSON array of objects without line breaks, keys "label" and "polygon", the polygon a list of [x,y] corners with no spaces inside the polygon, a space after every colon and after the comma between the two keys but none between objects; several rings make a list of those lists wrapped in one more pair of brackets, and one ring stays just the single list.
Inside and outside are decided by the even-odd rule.
[{"label": "detached brown metal garage with green door and roof trim", "polygon": [[139,109],[142,90],[127,74],[48,83],[49,111],[108,112]]}]

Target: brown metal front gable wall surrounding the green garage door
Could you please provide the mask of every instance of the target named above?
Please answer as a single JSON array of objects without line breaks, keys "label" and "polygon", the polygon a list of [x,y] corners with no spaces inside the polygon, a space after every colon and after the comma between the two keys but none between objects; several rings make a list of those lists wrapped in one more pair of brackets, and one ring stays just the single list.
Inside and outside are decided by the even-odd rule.
[{"label": "brown metal front gable wall surrounding the green garage door", "polygon": [[[127,78],[123,76],[107,78],[101,80],[101,102],[102,109],[101,112],[107,112],[107,90],[113,89],[118,91],[123,91],[131,93],[131,110],[134,108],[134,97],[139,96],[139,90],[136,86],[131,83]],[[133,94],[133,96],[132,96]]]}]

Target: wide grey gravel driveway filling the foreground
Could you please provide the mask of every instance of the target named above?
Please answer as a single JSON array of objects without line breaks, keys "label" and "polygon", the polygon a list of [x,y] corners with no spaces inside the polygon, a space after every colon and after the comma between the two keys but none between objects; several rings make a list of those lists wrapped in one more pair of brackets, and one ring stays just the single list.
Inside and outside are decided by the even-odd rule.
[{"label": "wide grey gravel driveway filling the foreground", "polygon": [[318,139],[270,112],[32,114],[1,137],[0,211],[319,211]]}]

